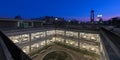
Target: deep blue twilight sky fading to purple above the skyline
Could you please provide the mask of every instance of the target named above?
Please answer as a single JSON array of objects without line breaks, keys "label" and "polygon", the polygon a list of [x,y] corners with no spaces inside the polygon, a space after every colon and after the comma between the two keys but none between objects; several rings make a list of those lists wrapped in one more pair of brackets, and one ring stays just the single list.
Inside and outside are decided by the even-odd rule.
[{"label": "deep blue twilight sky fading to purple above the skyline", "polygon": [[86,20],[92,9],[95,17],[120,16],[120,0],[0,0],[0,17],[58,16]]}]

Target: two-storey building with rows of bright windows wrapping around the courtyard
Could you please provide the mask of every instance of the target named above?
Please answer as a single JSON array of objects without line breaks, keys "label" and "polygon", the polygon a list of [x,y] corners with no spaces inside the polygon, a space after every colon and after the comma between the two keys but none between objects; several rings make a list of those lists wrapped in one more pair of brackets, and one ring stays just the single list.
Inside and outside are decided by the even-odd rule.
[{"label": "two-storey building with rows of bright windows wrapping around the courtyard", "polygon": [[[6,21],[4,22],[5,24],[8,22],[7,20],[4,21]],[[24,20],[20,21],[26,23]],[[19,27],[19,20],[10,22],[11,26]],[[41,26],[41,22],[39,21],[37,22],[30,20],[27,22],[32,22],[32,28],[9,28],[9,30],[1,29],[1,31],[28,55],[30,53],[39,51],[39,49],[42,47],[53,42],[60,42],[77,49],[87,50],[89,52],[95,53],[99,55],[98,60],[119,59],[119,55],[117,55],[116,51],[113,49],[114,47],[112,47],[111,43],[108,42],[110,40],[109,36],[106,35],[107,33],[104,32],[104,29],[97,29],[98,26],[84,25],[83,27],[81,25],[69,25],[64,28],[56,28],[54,26]],[[40,26],[37,26],[37,28],[35,26],[36,23],[38,25],[40,24]],[[116,57],[114,58],[114,56]]]}]

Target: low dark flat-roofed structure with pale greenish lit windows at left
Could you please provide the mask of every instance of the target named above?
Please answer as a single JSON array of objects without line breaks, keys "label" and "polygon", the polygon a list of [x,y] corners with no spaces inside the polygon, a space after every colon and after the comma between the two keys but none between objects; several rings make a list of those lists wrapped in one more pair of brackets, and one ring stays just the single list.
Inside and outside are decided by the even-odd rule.
[{"label": "low dark flat-roofed structure with pale greenish lit windows at left", "polygon": [[40,27],[41,25],[42,22],[39,20],[0,18],[0,29]]}]

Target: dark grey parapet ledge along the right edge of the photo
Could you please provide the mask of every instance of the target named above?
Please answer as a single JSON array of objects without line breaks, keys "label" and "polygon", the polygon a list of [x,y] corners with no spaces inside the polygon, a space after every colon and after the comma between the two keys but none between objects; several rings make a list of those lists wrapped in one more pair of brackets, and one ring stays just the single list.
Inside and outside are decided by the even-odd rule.
[{"label": "dark grey parapet ledge along the right edge of the photo", "polygon": [[104,37],[103,44],[110,60],[120,59],[120,37],[105,28],[101,28]]}]

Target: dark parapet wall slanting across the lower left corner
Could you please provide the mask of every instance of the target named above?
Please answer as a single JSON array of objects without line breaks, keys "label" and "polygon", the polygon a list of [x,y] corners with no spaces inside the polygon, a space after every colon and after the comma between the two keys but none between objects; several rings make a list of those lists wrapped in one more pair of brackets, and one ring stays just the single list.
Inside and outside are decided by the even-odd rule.
[{"label": "dark parapet wall slanting across the lower left corner", "polygon": [[2,60],[31,60],[29,56],[27,56],[19,47],[17,47],[4,33],[0,31],[0,46],[4,55]]}]

